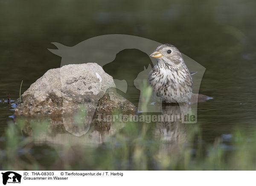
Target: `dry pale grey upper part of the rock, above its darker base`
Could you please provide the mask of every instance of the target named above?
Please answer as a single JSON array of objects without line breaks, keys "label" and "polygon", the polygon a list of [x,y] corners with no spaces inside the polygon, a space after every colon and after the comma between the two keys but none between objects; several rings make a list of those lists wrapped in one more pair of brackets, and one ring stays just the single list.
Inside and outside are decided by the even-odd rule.
[{"label": "dry pale grey upper part of the rock, above its darker base", "polygon": [[69,64],[48,70],[22,96],[32,95],[37,90],[49,93],[52,89],[70,95],[86,95],[92,92],[94,95],[101,93],[103,96],[109,87],[116,87],[113,78],[98,64]]}]

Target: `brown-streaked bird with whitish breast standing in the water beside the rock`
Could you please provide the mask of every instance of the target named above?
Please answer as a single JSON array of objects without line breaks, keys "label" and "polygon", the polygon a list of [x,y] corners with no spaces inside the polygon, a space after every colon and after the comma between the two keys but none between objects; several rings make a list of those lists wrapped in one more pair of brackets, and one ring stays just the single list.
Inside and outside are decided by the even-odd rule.
[{"label": "brown-streaked bird with whitish breast standing in the water beside the rock", "polygon": [[192,74],[180,51],[172,44],[163,44],[150,55],[157,64],[148,75],[154,96],[165,103],[189,103],[192,96]]}]

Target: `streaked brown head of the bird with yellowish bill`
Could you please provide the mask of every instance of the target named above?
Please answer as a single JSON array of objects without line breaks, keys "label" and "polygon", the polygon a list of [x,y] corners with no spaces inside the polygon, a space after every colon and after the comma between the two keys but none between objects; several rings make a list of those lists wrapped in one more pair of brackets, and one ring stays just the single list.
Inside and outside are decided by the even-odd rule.
[{"label": "streaked brown head of the bird with yellowish bill", "polygon": [[163,44],[158,46],[150,56],[173,67],[180,66],[184,63],[180,51],[172,44]]}]

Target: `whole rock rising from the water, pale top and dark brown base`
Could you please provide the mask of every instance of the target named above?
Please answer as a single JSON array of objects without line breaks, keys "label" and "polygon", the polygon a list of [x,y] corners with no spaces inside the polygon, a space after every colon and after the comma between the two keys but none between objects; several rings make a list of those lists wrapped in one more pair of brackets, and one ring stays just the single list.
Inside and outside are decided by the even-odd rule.
[{"label": "whole rock rising from the water, pale top and dark brown base", "polygon": [[15,108],[15,115],[67,116],[84,108],[90,123],[96,107],[98,112],[110,113],[114,108],[134,112],[135,106],[117,94],[114,87],[113,78],[96,63],[65,65],[48,70],[35,81],[22,94],[22,104]]}]

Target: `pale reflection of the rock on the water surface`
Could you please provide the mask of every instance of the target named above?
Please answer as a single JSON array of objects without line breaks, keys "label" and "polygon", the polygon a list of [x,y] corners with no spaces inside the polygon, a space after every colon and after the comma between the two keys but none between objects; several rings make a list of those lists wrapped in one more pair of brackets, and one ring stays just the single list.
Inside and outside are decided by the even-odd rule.
[{"label": "pale reflection of the rock on the water surface", "polygon": [[[62,116],[51,118],[48,120],[47,132],[41,132],[40,135],[35,136],[36,144],[48,144],[48,145],[81,145],[81,146],[98,146],[105,142],[108,137],[111,137],[113,134],[116,134],[116,128],[122,128],[123,123],[115,123],[115,126],[112,126],[110,122],[92,122],[86,123],[84,125],[77,124],[72,119],[72,116],[67,116],[63,119]],[[22,118],[15,119],[16,124],[24,122],[25,125],[22,128],[23,134],[33,135],[34,127],[31,127],[31,124],[37,122],[36,125],[43,123],[46,118],[30,118],[23,120]],[[93,119],[95,120],[95,119]],[[63,122],[65,121],[65,122]],[[84,133],[84,135],[78,137],[72,133],[78,132],[79,134]]]}]

